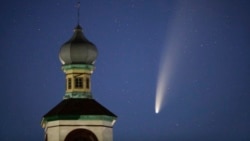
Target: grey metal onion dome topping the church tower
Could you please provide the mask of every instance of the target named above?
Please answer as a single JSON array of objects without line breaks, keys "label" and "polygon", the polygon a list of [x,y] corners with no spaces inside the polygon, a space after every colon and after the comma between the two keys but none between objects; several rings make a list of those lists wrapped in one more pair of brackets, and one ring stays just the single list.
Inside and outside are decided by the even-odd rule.
[{"label": "grey metal onion dome topping the church tower", "polygon": [[64,43],[59,52],[59,59],[63,65],[94,64],[97,48],[83,35],[82,28],[77,25],[69,41]]}]

